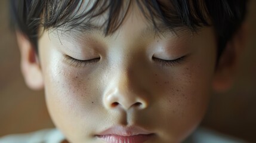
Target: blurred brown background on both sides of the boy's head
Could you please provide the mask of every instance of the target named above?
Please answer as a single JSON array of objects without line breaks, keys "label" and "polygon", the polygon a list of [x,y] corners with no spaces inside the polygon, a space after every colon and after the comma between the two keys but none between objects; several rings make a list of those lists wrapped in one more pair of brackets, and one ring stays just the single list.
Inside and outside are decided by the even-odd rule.
[{"label": "blurred brown background on both sides of the boy's head", "polygon": [[[235,85],[215,93],[202,126],[256,142],[256,1],[248,4],[248,37]],[[53,128],[43,91],[27,88],[20,72],[16,36],[8,21],[8,0],[0,1],[0,136]]]}]

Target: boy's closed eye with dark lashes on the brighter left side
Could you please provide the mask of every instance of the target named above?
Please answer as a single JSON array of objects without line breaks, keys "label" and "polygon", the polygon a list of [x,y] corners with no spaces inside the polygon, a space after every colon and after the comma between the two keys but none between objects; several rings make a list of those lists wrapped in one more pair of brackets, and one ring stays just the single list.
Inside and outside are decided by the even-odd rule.
[{"label": "boy's closed eye with dark lashes on the brighter left side", "polygon": [[90,60],[78,60],[76,58],[70,57],[69,55],[64,55],[64,60],[70,64],[70,66],[75,66],[75,67],[87,67],[90,66],[91,64],[95,64],[98,61],[100,61],[100,57],[98,58],[92,58]]}]

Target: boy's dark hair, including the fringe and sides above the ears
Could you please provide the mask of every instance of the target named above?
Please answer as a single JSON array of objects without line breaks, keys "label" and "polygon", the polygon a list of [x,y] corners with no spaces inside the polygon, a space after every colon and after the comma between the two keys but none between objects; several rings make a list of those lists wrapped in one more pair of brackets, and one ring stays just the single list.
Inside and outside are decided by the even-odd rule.
[{"label": "boy's dark hair, including the fringe and sides above the ears", "polygon": [[[24,33],[37,52],[39,28],[81,26],[98,15],[107,13],[103,24],[106,35],[115,32],[124,20],[133,1],[95,0],[91,7],[82,10],[83,0],[11,0],[11,19],[14,26]],[[187,27],[196,31],[202,26],[214,26],[218,37],[218,57],[227,41],[242,24],[246,13],[246,0],[137,0],[144,16],[158,26],[160,20],[169,29]],[[127,3],[127,4],[124,4]],[[89,27],[90,28],[90,27]]]}]

